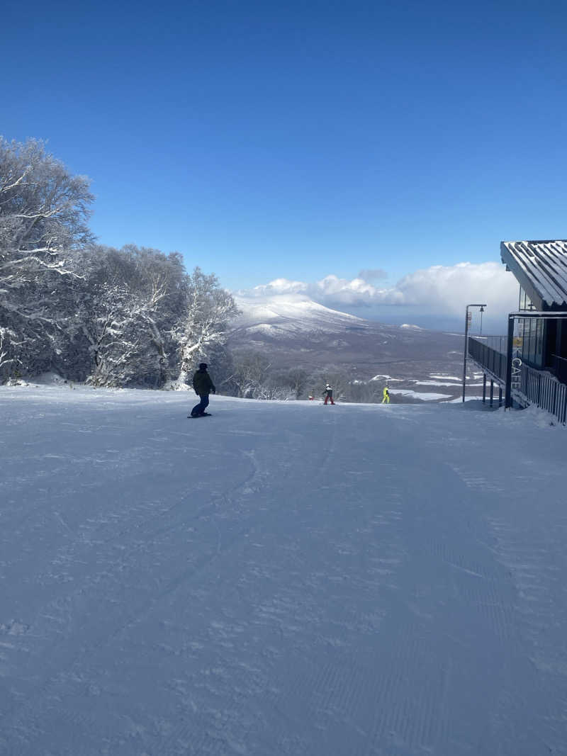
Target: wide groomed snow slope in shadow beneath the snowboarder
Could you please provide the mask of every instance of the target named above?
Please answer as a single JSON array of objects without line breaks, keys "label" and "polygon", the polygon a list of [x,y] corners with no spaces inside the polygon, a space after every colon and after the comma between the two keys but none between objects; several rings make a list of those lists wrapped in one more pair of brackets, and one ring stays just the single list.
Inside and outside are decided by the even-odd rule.
[{"label": "wide groomed snow slope in shadow beneath the snowboarder", "polygon": [[567,753],[565,429],[3,387],[0,753]]}]

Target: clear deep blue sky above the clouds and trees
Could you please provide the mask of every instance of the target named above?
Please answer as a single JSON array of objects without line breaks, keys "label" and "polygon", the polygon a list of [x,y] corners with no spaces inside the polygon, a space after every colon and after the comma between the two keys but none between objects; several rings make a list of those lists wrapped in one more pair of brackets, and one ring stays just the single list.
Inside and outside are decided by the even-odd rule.
[{"label": "clear deep blue sky above the clouds and trees", "polygon": [[0,133],[91,177],[102,243],[231,290],[383,290],[567,237],[564,3],[32,2],[3,26]]}]

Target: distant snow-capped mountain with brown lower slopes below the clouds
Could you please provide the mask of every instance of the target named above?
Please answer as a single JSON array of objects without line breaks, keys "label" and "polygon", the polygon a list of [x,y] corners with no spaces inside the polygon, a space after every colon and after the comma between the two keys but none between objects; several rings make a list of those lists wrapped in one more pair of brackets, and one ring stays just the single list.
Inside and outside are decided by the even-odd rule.
[{"label": "distant snow-capped mountain with brown lower slopes below the clouds", "polygon": [[[274,367],[333,365],[363,381],[392,376],[399,389],[417,389],[418,395],[430,393],[423,381],[436,374],[463,374],[463,336],[456,333],[366,321],[299,294],[240,298],[237,304],[242,314],[234,321],[229,347],[236,352],[256,349]],[[448,398],[458,395],[459,380]],[[419,388],[416,381],[422,382]]]}]

